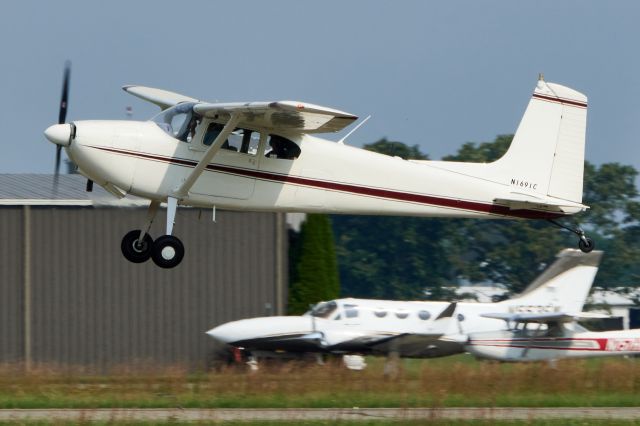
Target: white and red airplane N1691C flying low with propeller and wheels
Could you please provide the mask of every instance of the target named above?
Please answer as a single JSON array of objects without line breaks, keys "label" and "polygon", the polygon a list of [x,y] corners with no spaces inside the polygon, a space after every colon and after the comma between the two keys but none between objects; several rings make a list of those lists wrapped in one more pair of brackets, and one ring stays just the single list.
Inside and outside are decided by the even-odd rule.
[{"label": "white and red airplane N1691C flying low with propeller and wheels", "polygon": [[[158,105],[150,121],[65,123],[45,131],[78,171],[112,194],[150,200],[146,223],[126,234],[131,262],[178,265],[178,205],[230,210],[552,220],[582,204],[587,98],[540,79],[507,153],[489,164],[405,161],[320,139],[357,117],[303,102],[208,103],[143,86],[132,95]],[[148,234],[160,203],[166,234]],[[554,222],[556,223],[556,222]],[[558,224],[558,223],[556,223]],[[563,225],[558,224],[564,227]],[[566,227],[565,227],[566,228]],[[580,249],[593,242],[580,229]]]}]

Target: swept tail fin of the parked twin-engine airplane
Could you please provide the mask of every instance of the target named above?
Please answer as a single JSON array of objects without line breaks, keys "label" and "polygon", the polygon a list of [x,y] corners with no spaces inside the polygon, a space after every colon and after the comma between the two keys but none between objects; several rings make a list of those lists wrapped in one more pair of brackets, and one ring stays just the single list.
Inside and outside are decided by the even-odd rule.
[{"label": "swept tail fin of the parked twin-engine airplane", "polygon": [[500,303],[513,312],[581,312],[601,259],[602,251],[564,249],[520,295]]}]

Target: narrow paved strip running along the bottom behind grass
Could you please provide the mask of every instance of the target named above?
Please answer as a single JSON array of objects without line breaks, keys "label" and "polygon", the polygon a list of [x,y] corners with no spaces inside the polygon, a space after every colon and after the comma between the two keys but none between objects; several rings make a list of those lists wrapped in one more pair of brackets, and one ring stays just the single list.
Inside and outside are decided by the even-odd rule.
[{"label": "narrow paved strip running along the bottom behind grass", "polygon": [[3,409],[0,421],[229,421],[372,419],[640,419],[631,408]]}]

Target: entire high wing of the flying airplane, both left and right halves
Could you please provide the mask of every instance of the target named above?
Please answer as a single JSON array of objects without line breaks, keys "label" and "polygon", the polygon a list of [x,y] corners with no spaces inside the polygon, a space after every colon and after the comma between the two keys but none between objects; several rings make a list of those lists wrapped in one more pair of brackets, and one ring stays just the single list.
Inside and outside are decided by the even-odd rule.
[{"label": "entire high wing of the flying airplane, both left and right halves", "polygon": [[158,105],[165,110],[182,102],[196,102],[193,110],[222,124],[231,116],[237,127],[278,129],[295,133],[339,132],[358,119],[333,108],[296,101],[207,103],[197,99],[144,86],[124,86],[124,91]]}]

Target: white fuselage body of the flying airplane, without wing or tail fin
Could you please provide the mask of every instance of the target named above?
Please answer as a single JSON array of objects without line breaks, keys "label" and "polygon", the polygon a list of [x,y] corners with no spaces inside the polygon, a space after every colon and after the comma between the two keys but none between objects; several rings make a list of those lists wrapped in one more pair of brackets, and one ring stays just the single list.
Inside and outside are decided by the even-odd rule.
[{"label": "white fuselage body of the flying airplane, without wing or tail fin", "polygon": [[[171,137],[153,121],[79,121],[66,147],[79,171],[119,194],[164,201],[189,176],[207,146],[204,120],[190,142]],[[285,135],[298,158],[265,155],[269,132],[257,149],[221,149],[180,204],[231,210],[347,214],[552,218],[568,214],[530,205],[512,210],[496,198],[522,189],[517,174],[486,179],[485,164],[415,163],[320,139]],[[481,174],[481,173],[478,173]],[[578,211],[576,209],[575,211]],[[570,212],[570,213],[574,213]]]}]

